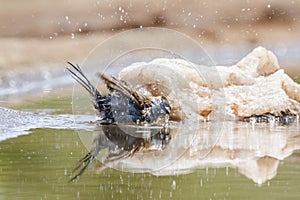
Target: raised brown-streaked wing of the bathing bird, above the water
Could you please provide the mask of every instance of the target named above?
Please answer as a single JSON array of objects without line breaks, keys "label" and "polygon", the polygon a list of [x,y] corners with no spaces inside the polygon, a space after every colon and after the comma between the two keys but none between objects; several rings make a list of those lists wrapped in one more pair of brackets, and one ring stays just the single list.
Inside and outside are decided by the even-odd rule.
[{"label": "raised brown-streaked wing of the bathing bird, above the water", "polygon": [[110,91],[117,91],[127,96],[133,101],[137,108],[143,109],[151,106],[151,100],[149,98],[138,94],[135,90],[131,89],[125,82],[120,81],[114,76],[112,76],[112,78],[109,78],[104,74],[98,74],[98,76],[105,82],[107,88]]}]

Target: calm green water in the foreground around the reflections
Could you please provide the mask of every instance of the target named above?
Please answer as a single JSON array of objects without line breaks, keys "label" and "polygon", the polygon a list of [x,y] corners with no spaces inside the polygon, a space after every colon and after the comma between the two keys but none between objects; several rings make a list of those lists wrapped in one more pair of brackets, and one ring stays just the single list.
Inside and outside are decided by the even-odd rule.
[{"label": "calm green water in the foreground around the reflections", "polygon": [[[24,110],[40,108],[27,102]],[[43,109],[69,113],[68,98],[43,101]],[[59,111],[57,109],[60,109]],[[233,168],[199,169],[179,176],[153,176],[90,167],[68,182],[87,150],[74,130],[34,129],[0,142],[0,199],[299,199],[300,153],[281,161],[262,185]]]}]

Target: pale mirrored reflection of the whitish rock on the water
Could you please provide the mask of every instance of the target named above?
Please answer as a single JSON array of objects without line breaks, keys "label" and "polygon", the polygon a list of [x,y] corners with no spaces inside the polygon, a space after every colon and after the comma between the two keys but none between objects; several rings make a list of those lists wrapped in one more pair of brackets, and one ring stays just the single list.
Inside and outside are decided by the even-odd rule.
[{"label": "pale mirrored reflection of the whitish rock on the water", "polygon": [[[298,122],[289,126],[234,121],[218,126],[212,122],[172,124],[170,134],[172,140],[164,150],[143,148],[134,156],[105,163],[105,167],[154,175],[233,167],[262,184],[276,175],[280,160],[300,149]],[[98,172],[102,169],[103,165],[96,167]]]}]

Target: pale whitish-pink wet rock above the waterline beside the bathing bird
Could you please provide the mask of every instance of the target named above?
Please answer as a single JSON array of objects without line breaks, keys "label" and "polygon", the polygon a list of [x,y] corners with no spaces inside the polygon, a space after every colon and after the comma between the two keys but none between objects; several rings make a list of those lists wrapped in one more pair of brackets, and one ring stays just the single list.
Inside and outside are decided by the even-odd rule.
[{"label": "pale whitish-pink wet rock above the waterline beside the bathing bird", "polygon": [[[119,77],[152,95],[165,95],[173,106],[171,119],[240,119],[288,111],[299,114],[300,85],[276,56],[257,47],[233,66],[206,67],[181,59],[135,63]],[[145,87],[153,85],[154,87]],[[176,106],[175,106],[176,105]]]}]

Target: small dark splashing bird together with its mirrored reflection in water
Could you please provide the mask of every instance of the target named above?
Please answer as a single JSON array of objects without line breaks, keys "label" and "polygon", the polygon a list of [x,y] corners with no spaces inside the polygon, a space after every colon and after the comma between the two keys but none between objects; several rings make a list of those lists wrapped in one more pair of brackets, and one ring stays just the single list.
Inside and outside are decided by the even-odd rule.
[{"label": "small dark splashing bird together with its mirrored reflection in water", "polygon": [[[91,95],[93,106],[100,117],[98,125],[102,128],[102,132],[94,138],[90,152],[79,160],[73,173],[79,172],[70,181],[82,175],[102,149],[108,149],[101,165],[104,167],[106,163],[134,155],[141,148],[162,150],[166,147],[171,140],[167,126],[171,106],[166,97],[141,95],[116,77],[98,74],[109,91],[102,95],[78,65],[68,64],[72,67],[67,67],[72,77]],[[135,126],[123,128],[126,125]]]}]

